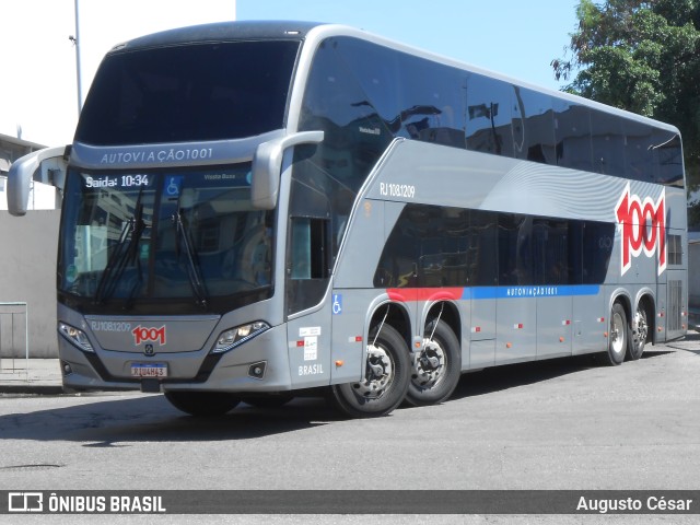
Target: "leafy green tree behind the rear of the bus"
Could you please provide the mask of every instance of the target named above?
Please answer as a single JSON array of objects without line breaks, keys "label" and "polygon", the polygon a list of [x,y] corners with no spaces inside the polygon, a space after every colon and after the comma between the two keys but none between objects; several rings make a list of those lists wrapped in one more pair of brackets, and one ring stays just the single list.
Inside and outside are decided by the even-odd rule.
[{"label": "leafy green tree behind the rear of the bus", "polygon": [[700,189],[700,0],[581,0],[576,18],[571,57],[551,61],[564,91],[678,127],[689,192]]}]

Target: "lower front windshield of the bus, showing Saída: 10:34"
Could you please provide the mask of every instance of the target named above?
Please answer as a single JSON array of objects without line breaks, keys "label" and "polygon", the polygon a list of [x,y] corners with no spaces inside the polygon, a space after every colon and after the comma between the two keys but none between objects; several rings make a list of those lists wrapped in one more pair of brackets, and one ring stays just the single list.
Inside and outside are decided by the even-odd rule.
[{"label": "lower front windshield of the bus, showing Sa\u00edda: 10:34", "polygon": [[272,218],[250,205],[250,163],[71,171],[66,197],[58,287],[74,300],[122,310],[179,300],[201,312],[271,290]]}]

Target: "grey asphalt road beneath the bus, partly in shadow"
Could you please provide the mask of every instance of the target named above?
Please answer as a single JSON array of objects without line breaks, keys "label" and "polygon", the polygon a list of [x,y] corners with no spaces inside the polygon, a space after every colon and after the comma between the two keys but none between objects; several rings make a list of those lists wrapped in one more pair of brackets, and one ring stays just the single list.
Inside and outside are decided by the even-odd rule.
[{"label": "grey asphalt road beneath the bus, partly in shadow", "polygon": [[[700,342],[690,341],[651,347],[640,361],[616,368],[586,357],[467,374],[441,406],[400,408],[371,420],[346,419],[316,398],[277,409],[241,405],[222,418],[197,419],[161,395],[3,396],[0,489],[697,490],[699,377]],[[456,517],[431,523],[457,523]],[[222,516],[210,518],[224,523]],[[236,520],[269,525],[296,517]],[[541,521],[487,515],[458,523]],[[662,522],[664,516],[643,521]]]}]

